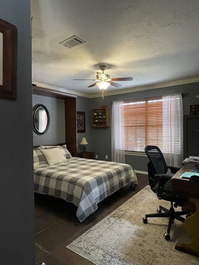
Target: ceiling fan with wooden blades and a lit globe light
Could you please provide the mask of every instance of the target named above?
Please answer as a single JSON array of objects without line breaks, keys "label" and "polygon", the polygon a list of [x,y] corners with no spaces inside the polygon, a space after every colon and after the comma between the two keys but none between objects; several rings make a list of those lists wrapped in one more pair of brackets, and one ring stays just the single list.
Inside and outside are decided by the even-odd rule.
[{"label": "ceiling fan with wooden blades and a lit globe light", "polygon": [[110,78],[110,75],[104,74],[104,70],[106,69],[106,65],[100,65],[99,68],[101,69],[102,73],[97,72],[95,79],[73,79],[73,80],[93,80],[97,81],[96,83],[88,86],[93,87],[94,85],[97,85],[100,89],[102,89],[102,98],[104,98],[103,91],[104,89],[107,89],[109,85],[112,85],[114,87],[121,87],[122,85],[118,83],[114,83],[113,81],[132,81],[132,77],[118,77],[118,78]]}]

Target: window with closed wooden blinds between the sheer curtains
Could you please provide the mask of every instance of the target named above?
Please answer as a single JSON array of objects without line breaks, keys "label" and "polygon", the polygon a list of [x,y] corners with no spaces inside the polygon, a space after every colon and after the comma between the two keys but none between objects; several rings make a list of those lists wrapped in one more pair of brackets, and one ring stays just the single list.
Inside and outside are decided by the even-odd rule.
[{"label": "window with closed wooden blinds between the sheer curtains", "polygon": [[163,148],[163,99],[124,101],[125,151],[144,152],[146,145]]}]

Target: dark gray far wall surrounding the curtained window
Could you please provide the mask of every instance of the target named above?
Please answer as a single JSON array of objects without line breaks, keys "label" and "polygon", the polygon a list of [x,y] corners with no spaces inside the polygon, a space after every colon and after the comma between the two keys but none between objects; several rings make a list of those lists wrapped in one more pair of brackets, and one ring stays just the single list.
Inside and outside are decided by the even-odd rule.
[{"label": "dark gray far wall surrounding the curtained window", "polygon": [[[191,104],[199,104],[199,99],[196,95],[199,93],[199,83],[191,83],[185,85],[176,85],[165,88],[150,89],[144,91],[137,91],[126,94],[118,94],[112,96],[104,96],[104,99],[91,98],[90,109],[100,107],[101,105],[108,105],[110,108],[110,127],[105,128],[93,128],[91,129],[91,142],[92,152],[98,154],[98,159],[106,160],[105,155],[108,155],[108,160],[111,161],[111,116],[112,116],[112,103],[118,100],[131,100],[140,98],[156,97],[161,95],[184,93],[186,96],[183,98],[183,115],[190,113]],[[91,127],[91,125],[90,125]],[[143,156],[126,155],[126,163],[130,164],[135,170],[147,171],[148,158]]]}]

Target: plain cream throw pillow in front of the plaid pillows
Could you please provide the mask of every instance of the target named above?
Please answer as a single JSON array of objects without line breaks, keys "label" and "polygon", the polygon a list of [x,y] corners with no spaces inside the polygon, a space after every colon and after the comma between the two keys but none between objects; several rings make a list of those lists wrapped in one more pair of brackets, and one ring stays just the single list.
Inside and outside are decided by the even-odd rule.
[{"label": "plain cream throw pillow in front of the plaid pillows", "polygon": [[66,157],[62,154],[61,150],[58,148],[41,149],[41,152],[45,156],[50,166],[67,162]]}]

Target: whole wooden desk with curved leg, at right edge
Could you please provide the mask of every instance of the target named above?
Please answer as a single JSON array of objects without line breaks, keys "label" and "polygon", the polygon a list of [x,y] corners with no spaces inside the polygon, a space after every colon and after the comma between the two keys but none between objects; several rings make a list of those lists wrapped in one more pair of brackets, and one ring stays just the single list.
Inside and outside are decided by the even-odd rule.
[{"label": "whole wooden desk with curved leg, at right edge", "polygon": [[185,171],[192,171],[184,165],[173,177],[173,193],[178,196],[189,198],[190,202],[195,203],[196,212],[187,217],[184,227],[192,235],[192,241],[186,244],[177,243],[175,249],[199,257],[199,177],[192,176],[190,179],[182,179],[180,176]]}]

